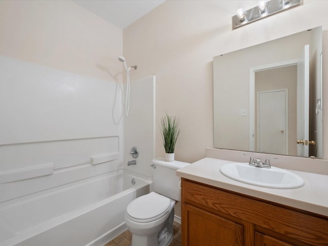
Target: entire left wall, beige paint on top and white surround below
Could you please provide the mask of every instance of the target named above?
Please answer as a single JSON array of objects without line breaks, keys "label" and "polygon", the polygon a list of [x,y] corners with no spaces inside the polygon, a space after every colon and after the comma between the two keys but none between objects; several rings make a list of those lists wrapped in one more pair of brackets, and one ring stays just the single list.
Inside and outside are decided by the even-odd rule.
[{"label": "entire left wall, beige paint on top and white surround below", "polygon": [[122,30],[71,1],[0,1],[0,34],[0,207],[122,168]]}]

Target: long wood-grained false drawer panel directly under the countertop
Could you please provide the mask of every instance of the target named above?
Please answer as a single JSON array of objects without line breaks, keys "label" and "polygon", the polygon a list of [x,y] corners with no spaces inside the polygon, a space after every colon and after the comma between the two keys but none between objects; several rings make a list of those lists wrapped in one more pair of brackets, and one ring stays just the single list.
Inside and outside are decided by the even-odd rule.
[{"label": "long wood-grained false drawer panel directly under the countertop", "polygon": [[182,201],[199,204],[256,224],[265,230],[299,241],[302,243],[300,245],[328,245],[328,219],[322,216],[302,213],[235,192],[202,186],[187,179],[182,179]]}]

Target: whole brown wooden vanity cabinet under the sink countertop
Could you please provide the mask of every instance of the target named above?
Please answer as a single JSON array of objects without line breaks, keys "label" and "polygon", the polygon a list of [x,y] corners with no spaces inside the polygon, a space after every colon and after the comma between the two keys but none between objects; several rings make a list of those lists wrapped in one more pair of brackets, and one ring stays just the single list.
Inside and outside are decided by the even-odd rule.
[{"label": "whole brown wooden vanity cabinet under the sink countertop", "polygon": [[328,245],[328,217],[182,180],[182,246]]}]

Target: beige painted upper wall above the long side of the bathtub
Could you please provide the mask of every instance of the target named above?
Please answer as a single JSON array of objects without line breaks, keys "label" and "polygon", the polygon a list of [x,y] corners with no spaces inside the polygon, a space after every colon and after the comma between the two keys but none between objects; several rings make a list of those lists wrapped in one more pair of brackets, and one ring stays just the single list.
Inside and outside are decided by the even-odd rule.
[{"label": "beige painted upper wall above the long side of the bathtub", "polygon": [[122,30],[72,1],[0,1],[0,54],[121,80]]}]

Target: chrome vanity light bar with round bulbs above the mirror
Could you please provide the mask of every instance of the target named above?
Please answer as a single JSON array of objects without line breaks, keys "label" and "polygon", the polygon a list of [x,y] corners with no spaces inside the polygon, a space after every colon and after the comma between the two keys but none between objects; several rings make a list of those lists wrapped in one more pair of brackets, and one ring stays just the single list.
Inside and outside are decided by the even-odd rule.
[{"label": "chrome vanity light bar with round bulbs above the mirror", "polygon": [[276,14],[301,4],[301,0],[260,0],[258,5],[244,11],[238,9],[237,14],[232,16],[232,29],[250,24],[264,17]]}]

